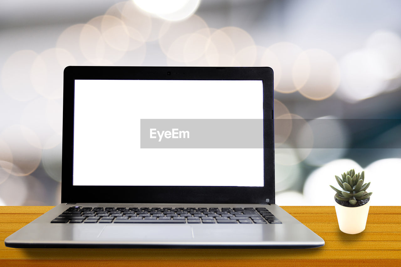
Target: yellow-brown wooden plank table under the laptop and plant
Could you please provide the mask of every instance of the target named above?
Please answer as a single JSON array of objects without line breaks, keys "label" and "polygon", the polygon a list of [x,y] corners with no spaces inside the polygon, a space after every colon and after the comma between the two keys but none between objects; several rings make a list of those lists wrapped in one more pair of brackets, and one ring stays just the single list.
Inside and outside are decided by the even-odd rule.
[{"label": "yellow-brown wooden plank table under the laptop and plant", "polygon": [[344,234],[334,206],[283,206],[324,239],[316,249],[12,249],[4,239],[51,206],[0,206],[0,266],[401,266],[401,206],[371,206],[364,232]]}]

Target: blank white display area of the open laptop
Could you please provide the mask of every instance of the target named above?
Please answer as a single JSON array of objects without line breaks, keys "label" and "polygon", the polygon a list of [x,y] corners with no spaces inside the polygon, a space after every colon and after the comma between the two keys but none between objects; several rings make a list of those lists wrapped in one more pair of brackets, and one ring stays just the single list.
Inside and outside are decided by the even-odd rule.
[{"label": "blank white display area of the open laptop", "polygon": [[263,186],[260,80],[76,79],[74,186]]}]

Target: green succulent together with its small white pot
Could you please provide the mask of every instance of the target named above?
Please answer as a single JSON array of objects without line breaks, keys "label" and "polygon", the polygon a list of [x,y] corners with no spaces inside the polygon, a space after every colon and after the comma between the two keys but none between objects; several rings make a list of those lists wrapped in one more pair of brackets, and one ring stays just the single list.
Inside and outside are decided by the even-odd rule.
[{"label": "green succulent together with its small white pot", "polygon": [[365,172],[355,174],[355,170],[344,172],[342,178],[335,176],[340,190],[330,186],[336,191],[334,200],[340,230],[347,234],[358,234],[365,230],[368,218],[370,196],[366,192],[371,184],[365,183]]}]

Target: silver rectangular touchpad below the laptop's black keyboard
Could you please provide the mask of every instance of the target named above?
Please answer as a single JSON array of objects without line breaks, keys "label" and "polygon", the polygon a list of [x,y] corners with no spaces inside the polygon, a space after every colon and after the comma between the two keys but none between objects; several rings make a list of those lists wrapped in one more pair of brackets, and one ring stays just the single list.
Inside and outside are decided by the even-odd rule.
[{"label": "silver rectangular touchpad below the laptop's black keyboard", "polygon": [[190,225],[107,225],[98,240],[180,241],[193,238]]}]

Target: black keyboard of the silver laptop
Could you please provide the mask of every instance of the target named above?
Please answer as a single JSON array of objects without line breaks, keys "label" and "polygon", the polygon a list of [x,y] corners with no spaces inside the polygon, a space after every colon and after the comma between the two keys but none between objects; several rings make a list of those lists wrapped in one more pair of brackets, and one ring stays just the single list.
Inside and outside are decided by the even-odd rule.
[{"label": "black keyboard of the silver laptop", "polygon": [[51,223],[282,223],[266,208],[71,206]]}]

